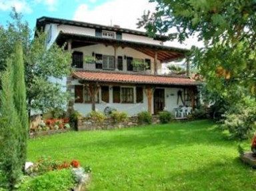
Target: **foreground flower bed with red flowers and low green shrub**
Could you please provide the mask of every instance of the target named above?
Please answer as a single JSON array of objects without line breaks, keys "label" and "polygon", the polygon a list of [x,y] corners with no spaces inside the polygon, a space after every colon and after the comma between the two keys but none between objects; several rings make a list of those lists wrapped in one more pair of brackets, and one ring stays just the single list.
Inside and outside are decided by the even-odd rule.
[{"label": "foreground flower bed with red flowers and low green shrub", "polygon": [[57,161],[51,158],[40,158],[30,163],[26,174],[19,185],[25,190],[82,190],[89,181],[91,168],[83,168],[77,160]]}]

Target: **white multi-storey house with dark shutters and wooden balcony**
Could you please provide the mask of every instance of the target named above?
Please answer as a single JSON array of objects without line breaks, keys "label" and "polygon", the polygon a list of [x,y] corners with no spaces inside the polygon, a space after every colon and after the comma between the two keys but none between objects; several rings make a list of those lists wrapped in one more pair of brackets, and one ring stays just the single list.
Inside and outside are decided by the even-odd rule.
[{"label": "white multi-storey house with dark shutters and wooden balcony", "polygon": [[86,115],[113,109],[129,115],[147,110],[197,104],[198,83],[187,75],[167,75],[165,63],[185,58],[189,50],[163,45],[167,37],[65,19],[41,17],[37,29],[48,34],[47,46],[66,43],[74,72],[63,81],[75,100],[69,108]]}]

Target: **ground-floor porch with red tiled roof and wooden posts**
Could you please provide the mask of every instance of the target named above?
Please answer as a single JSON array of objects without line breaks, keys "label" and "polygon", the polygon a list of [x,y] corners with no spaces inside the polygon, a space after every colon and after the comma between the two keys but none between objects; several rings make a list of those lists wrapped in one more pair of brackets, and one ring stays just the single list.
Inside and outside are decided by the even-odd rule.
[{"label": "ground-floor porch with red tiled roof and wooden posts", "polygon": [[157,114],[165,109],[175,114],[180,105],[194,108],[198,99],[197,83],[192,79],[91,71],[77,71],[73,78],[73,107],[84,116],[91,110],[111,109],[129,116],[145,110]]}]

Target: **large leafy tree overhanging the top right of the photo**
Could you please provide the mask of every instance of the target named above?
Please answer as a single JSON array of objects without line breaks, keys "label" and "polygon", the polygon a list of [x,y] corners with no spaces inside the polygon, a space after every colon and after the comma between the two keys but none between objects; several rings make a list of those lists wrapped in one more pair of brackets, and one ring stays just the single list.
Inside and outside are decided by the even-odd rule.
[{"label": "large leafy tree overhanging the top right of the photo", "polygon": [[233,102],[241,96],[256,96],[256,1],[150,0],[155,13],[145,13],[139,27],[149,35],[167,33],[184,41],[197,35],[205,47],[194,48],[193,64],[207,87]]}]

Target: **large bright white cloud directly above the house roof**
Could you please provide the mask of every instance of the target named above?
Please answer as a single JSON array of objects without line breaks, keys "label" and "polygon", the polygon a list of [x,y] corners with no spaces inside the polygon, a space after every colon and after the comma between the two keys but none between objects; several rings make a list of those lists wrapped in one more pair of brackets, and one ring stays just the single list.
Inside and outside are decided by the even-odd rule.
[{"label": "large bright white cloud directly above the house roof", "polygon": [[[123,28],[143,31],[143,29],[137,29],[136,23],[145,10],[155,11],[155,3],[149,3],[148,0],[112,0],[92,10],[84,3],[79,5],[73,19],[101,25],[112,23],[112,25],[120,25]],[[199,43],[196,37],[191,37],[182,45],[178,41],[169,41],[165,45],[190,49],[192,45],[202,47],[203,43]]]}]

